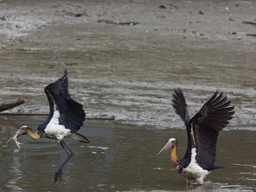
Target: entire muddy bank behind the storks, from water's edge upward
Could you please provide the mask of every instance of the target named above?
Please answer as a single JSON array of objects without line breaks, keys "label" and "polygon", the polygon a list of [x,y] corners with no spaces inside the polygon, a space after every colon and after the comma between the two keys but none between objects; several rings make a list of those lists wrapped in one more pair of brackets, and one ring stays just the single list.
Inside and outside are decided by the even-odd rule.
[{"label": "entire muddy bank behind the storks, from water's edge upward", "polygon": [[256,45],[246,35],[255,26],[243,23],[254,22],[255,1],[2,1],[0,10],[1,101],[26,100],[11,111],[47,113],[44,87],[65,67],[89,116],[179,128],[173,89],[191,114],[218,89],[236,106],[229,129],[255,130]]}]

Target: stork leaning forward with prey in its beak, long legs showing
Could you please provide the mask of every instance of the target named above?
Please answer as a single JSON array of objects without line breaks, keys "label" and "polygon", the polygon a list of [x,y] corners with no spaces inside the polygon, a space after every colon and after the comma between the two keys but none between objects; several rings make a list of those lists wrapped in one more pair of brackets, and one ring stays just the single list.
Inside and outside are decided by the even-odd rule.
[{"label": "stork leaning forward with prey in its beak, long legs showing", "polygon": [[35,140],[40,138],[50,138],[60,143],[61,147],[63,147],[65,152],[67,152],[68,157],[55,173],[55,183],[58,179],[61,179],[62,168],[73,155],[72,150],[68,148],[63,139],[71,137],[74,140],[83,143],[89,143],[90,141],[83,135],[77,133],[83,125],[85,113],[83,106],[70,98],[68,93],[67,70],[65,70],[63,77],[58,79],[55,83],[51,83],[46,86],[44,91],[50,106],[48,118],[44,123],[38,126],[38,130],[36,132],[31,131],[31,128],[28,126],[20,127],[19,131],[17,131],[12,138],[6,142],[6,145],[15,141],[20,148],[22,143],[19,143],[17,138],[23,134],[27,134]]}]

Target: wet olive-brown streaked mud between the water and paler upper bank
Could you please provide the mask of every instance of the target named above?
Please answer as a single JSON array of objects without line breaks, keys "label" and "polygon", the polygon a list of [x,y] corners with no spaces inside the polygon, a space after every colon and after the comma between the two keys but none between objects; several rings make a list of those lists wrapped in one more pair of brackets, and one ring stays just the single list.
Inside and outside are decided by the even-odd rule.
[{"label": "wet olive-brown streaked mud between the water and paler upper bank", "polygon": [[[63,27],[67,25],[51,29],[61,32]],[[72,31],[74,26],[68,28],[76,33]],[[188,44],[177,36],[151,38],[156,35],[153,33],[129,36],[118,27],[118,38],[112,27],[79,28],[90,33],[78,35],[84,40],[75,50],[69,45],[45,50],[47,44],[36,35],[39,47],[30,47],[33,37],[29,36],[26,46],[0,51],[1,101],[26,100],[26,104],[9,112],[48,113],[44,87],[62,76],[64,65],[69,72],[70,94],[84,105],[88,116],[113,115],[127,124],[179,128],[179,116],[172,108],[173,89],[182,89],[191,114],[219,90],[236,107],[230,128],[255,130],[254,51],[221,42]],[[44,32],[51,39],[52,31],[48,30],[38,33]],[[70,36],[62,35],[59,43],[62,38]],[[230,50],[229,46],[240,50]]]}]

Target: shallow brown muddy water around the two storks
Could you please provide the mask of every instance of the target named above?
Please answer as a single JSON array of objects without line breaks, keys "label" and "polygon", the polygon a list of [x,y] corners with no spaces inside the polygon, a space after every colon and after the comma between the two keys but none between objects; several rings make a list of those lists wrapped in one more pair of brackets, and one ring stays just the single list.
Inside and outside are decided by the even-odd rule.
[{"label": "shallow brown muddy water around the two storks", "polygon": [[87,121],[79,131],[91,143],[66,140],[75,155],[63,169],[61,182],[53,184],[57,167],[66,158],[52,140],[22,136],[21,150],[3,144],[21,125],[36,126],[41,118],[1,118],[0,191],[255,191],[256,132],[222,131],[218,140],[215,170],[203,186],[186,185],[170,163],[168,153],[156,157],[169,138],[179,140],[178,155],[186,148],[182,129],[153,129],[118,122]]}]

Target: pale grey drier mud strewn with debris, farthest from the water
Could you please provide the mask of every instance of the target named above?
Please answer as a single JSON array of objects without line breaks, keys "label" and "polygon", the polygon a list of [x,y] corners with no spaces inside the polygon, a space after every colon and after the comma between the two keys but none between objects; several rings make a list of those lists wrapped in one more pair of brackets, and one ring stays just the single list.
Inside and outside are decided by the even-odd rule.
[{"label": "pale grey drier mud strewn with debris, farthest from the water", "polygon": [[256,42],[250,36],[255,33],[255,1],[19,0],[1,1],[0,10],[0,32],[7,36],[8,45],[40,29],[86,23],[138,24],[147,31],[197,40]]}]

